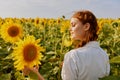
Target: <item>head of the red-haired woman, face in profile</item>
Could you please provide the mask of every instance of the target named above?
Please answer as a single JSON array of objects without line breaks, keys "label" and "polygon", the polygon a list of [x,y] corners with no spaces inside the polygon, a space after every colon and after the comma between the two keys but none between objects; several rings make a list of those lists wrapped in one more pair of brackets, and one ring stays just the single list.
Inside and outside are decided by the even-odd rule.
[{"label": "head of the red-haired woman, face in profile", "polygon": [[80,40],[79,46],[83,46],[89,41],[95,41],[98,38],[97,31],[97,19],[92,12],[78,11],[71,17],[71,38]]}]

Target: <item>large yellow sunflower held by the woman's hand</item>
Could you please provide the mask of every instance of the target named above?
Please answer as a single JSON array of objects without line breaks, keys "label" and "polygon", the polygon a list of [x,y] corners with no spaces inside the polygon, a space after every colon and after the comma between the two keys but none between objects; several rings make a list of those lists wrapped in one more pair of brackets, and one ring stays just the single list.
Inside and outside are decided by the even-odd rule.
[{"label": "large yellow sunflower held by the woman's hand", "polygon": [[23,70],[24,66],[31,68],[41,64],[39,60],[43,57],[41,51],[44,49],[38,45],[39,42],[40,39],[35,40],[34,36],[27,36],[24,40],[16,42],[12,56],[17,70]]}]

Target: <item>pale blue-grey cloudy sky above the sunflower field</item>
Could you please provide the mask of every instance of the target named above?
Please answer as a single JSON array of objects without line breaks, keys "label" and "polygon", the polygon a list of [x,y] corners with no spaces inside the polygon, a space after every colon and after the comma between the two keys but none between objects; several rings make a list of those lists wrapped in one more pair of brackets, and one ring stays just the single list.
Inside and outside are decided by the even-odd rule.
[{"label": "pale blue-grey cloudy sky above the sunflower field", "polygon": [[120,18],[120,0],[0,0],[0,17],[66,18],[90,10],[97,18]]}]

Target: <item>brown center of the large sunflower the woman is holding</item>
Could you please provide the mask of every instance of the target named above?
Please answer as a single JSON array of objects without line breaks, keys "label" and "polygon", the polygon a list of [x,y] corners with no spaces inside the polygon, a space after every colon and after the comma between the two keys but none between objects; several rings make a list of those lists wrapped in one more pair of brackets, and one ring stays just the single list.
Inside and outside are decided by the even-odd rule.
[{"label": "brown center of the large sunflower the woman is holding", "polygon": [[33,44],[28,44],[25,46],[23,53],[24,53],[24,60],[27,62],[31,62],[37,56],[37,48]]}]

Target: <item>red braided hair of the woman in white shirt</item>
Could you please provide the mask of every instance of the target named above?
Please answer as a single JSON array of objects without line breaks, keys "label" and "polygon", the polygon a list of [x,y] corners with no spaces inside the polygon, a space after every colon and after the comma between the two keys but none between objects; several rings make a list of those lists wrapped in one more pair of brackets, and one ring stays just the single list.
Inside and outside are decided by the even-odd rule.
[{"label": "red braided hair of the woman in white shirt", "polygon": [[86,23],[90,24],[90,28],[88,30],[88,33],[85,35],[85,39],[80,42],[78,47],[84,46],[89,41],[97,40],[98,38],[97,31],[99,27],[97,24],[97,19],[92,12],[88,10],[77,11],[73,14],[72,18],[77,18],[83,24]]}]

